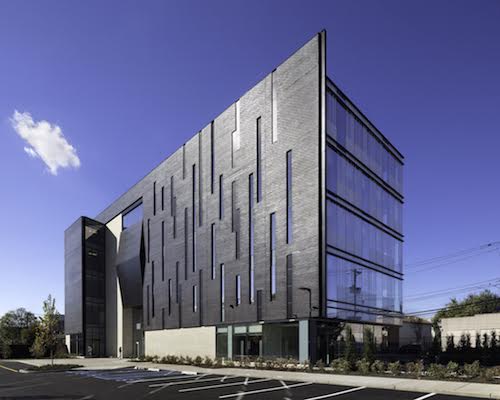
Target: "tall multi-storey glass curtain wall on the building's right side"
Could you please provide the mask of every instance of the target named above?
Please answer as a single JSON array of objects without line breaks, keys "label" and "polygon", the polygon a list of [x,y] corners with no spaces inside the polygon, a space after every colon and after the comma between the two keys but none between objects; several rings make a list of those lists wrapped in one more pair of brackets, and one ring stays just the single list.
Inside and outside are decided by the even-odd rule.
[{"label": "tall multi-storey glass curtain wall on the building's right side", "polygon": [[327,150],[327,314],[392,323],[402,313],[403,166],[332,92],[326,105],[338,148]]}]

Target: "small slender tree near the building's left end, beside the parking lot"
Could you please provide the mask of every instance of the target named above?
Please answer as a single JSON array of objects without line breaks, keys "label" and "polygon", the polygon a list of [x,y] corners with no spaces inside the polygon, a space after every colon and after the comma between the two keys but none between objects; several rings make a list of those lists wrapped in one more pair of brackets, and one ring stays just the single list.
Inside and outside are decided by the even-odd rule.
[{"label": "small slender tree near the building's left end, beside the parking lot", "polygon": [[60,315],[56,309],[56,299],[49,294],[47,300],[43,302],[43,316],[40,317],[40,323],[37,328],[35,342],[31,347],[31,353],[34,356],[50,353],[51,364],[54,365],[54,352],[57,345],[57,327]]}]

